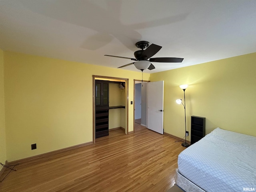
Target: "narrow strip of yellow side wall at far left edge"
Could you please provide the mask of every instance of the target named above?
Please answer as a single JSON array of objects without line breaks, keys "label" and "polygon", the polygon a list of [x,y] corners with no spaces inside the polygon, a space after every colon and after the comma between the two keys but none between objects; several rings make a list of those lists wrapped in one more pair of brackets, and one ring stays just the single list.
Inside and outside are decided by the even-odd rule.
[{"label": "narrow strip of yellow side wall at far left edge", "polygon": [[[6,161],[6,133],[4,112],[4,52],[0,50],[0,162]],[[2,167],[0,167],[0,170]]]}]

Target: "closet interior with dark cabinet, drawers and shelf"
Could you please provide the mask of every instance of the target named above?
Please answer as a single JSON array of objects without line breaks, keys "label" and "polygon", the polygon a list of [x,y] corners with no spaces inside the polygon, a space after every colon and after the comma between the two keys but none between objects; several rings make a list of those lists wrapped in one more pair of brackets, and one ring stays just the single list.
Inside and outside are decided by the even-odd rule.
[{"label": "closet interior with dark cabinet, drawers and shelf", "polygon": [[95,138],[125,128],[125,82],[95,80]]}]

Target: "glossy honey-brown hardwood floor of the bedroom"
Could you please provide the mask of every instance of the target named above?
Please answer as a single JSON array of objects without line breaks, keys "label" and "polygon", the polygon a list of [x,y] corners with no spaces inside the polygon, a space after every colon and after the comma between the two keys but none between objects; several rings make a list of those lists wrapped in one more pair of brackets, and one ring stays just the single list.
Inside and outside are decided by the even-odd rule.
[{"label": "glossy honey-brown hardwood floor of the bedroom", "polygon": [[[174,185],[174,138],[136,125],[134,133],[110,131],[96,144],[20,163],[1,192],[164,192]],[[4,172],[0,180],[8,173]]]}]

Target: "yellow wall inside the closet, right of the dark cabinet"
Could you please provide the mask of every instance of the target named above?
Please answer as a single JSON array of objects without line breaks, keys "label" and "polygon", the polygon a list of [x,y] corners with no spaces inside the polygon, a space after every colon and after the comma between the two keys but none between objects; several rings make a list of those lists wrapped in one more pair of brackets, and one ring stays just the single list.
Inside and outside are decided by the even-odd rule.
[{"label": "yellow wall inside the closet, right of the dark cabinet", "polygon": [[[119,84],[109,84],[109,106],[125,106],[125,90],[119,89]],[[125,128],[125,109],[117,108],[109,110],[109,129]]]}]

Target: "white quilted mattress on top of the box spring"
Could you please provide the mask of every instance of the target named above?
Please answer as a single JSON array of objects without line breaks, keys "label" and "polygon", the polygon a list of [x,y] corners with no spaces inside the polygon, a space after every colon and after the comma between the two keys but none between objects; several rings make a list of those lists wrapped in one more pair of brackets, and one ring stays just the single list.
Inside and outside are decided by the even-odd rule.
[{"label": "white quilted mattress on top of the box spring", "polygon": [[179,154],[178,170],[207,192],[256,190],[256,137],[216,128]]}]

